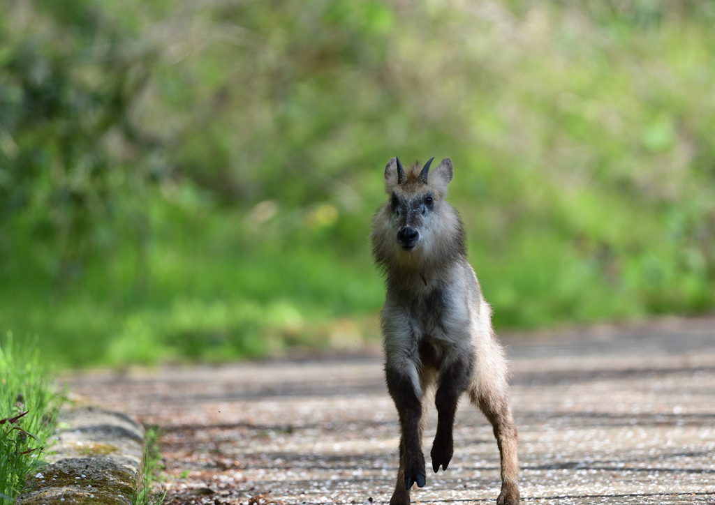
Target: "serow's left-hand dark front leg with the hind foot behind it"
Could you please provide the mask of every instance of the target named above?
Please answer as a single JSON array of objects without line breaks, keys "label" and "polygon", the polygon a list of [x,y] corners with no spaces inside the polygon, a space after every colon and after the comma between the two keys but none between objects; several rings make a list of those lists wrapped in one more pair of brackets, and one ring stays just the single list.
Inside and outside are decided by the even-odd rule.
[{"label": "serow's left-hand dark front leg with the hind foot behind it", "polygon": [[399,369],[387,368],[385,375],[388,391],[400,418],[400,469],[390,505],[405,505],[410,503],[410,488],[413,484],[423,487],[426,480],[420,433],[422,402],[409,374]]}]

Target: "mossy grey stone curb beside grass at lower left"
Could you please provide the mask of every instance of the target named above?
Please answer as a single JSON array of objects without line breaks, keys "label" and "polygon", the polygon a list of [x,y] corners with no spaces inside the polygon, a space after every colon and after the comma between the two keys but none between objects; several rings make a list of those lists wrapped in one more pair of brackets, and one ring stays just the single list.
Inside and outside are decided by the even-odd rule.
[{"label": "mossy grey stone curb beside grass at lower left", "polygon": [[17,505],[131,505],[142,469],[144,428],[96,406],[63,411],[47,466],[29,479]]}]

